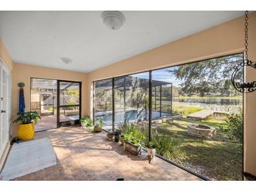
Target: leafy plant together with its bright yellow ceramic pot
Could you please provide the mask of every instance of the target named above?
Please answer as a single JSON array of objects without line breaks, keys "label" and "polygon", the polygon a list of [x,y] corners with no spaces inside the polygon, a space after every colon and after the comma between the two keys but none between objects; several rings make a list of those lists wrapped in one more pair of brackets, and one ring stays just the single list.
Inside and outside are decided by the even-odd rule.
[{"label": "leafy plant together with its bright yellow ceramic pot", "polygon": [[28,111],[24,113],[18,113],[18,118],[16,118],[13,123],[18,123],[21,121],[18,127],[18,138],[22,141],[28,141],[34,138],[34,125],[37,121],[41,119],[36,111]]}]

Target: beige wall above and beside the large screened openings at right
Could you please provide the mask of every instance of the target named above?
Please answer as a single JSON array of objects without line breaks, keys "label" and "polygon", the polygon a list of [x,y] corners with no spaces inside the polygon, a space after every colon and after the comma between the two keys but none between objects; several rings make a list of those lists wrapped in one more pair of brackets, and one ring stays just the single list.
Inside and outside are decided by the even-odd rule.
[{"label": "beige wall above and beside the large screened openings at right", "polygon": [[[250,14],[249,22],[249,57],[256,61],[256,12]],[[158,69],[231,53],[241,53],[244,48],[243,28],[242,17],[92,71],[88,73],[87,93],[90,92],[93,81],[102,78]],[[252,78],[250,71],[247,78]],[[255,80],[255,76],[253,78]],[[90,103],[90,109],[87,109],[86,114],[92,116],[91,95],[88,95],[86,102]],[[245,97],[245,172],[256,175],[255,113],[256,93],[250,93]]]}]

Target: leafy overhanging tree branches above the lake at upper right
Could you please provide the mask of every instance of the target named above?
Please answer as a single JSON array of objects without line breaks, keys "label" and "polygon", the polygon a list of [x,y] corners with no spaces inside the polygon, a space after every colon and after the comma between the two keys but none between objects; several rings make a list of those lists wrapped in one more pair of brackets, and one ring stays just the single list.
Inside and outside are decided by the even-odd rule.
[{"label": "leafy overhanging tree branches above the lake at upper right", "polygon": [[[201,96],[238,95],[231,84],[231,74],[234,66],[243,60],[242,54],[218,57],[211,60],[183,64],[168,69],[177,80],[181,80],[180,86],[184,94],[195,93]],[[243,77],[240,71],[237,78]]]}]

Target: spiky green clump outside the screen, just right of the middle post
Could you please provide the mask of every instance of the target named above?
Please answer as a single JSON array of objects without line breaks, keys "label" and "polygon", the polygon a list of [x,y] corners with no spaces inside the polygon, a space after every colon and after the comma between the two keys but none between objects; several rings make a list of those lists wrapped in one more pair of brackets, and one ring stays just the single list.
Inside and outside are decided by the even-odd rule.
[{"label": "spiky green clump outside the screen, just right of the middle post", "polygon": [[156,144],[156,153],[159,155],[173,159],[175,158],[175,151],[177,151],[177,140],[170,135],[159,135],[156,134],[153,137],[153,142]]}]

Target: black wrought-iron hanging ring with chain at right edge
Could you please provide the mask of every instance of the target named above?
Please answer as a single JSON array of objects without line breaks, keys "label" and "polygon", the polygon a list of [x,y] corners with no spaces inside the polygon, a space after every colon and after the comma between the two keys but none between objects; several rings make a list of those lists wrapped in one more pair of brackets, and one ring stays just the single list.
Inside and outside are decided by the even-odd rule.
[{"label": "black wrought-iron hanging ring with chain at right edge", "polygon": [[256,62],[252,62],[248,60],[248,11],[245,11],[245,50],[243,61],[240,62],[237,66],[234,67],[234,71],[231,75],[231,82],[234,88],[238,92],[248,93],[254,92],[256,90],[256,81],[251,81],[245,83],[242,81],[236,81],[239,71],[244,72],[246,67],[252,67],[252,69],[256,69]]}]

